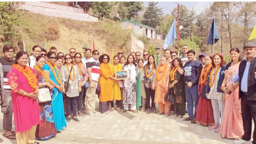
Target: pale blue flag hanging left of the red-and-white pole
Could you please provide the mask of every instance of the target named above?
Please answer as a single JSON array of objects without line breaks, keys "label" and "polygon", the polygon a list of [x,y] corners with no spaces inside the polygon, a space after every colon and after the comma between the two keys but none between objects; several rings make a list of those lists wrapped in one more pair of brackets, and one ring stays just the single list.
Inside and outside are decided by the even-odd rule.
[{"label": "pale blue flag hanging left of the red-and-white pole", "polygon": [[173,45],[173,41],[176,39],[176,20],[173,20],[173,24],[171,25],[171,28],[169,32],[167,33],[165,37],[165,43],[163,43],[163,49],[166,50],[168,45]]}]

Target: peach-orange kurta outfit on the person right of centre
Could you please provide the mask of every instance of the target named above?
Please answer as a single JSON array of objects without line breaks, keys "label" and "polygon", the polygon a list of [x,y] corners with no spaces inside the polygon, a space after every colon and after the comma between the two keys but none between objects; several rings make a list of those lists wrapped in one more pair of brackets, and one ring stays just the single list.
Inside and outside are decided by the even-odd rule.
[{"label": "peach-orange kurta outfit on the person right of centre", "polygon": [[155,103],[165,103],[165,95],[167,94],[167,90],[165,90],[165,86],[168,86],[169,81],[169,73],[171,68],[168,66],[167,63],[164,65],[159,65],[156,69],[155,73]]}]

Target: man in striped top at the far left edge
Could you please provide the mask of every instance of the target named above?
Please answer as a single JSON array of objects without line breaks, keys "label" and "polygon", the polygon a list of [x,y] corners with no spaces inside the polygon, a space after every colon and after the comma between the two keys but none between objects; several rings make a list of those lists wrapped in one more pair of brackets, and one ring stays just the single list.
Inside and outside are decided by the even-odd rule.
[{"label": "man in striped top at the far left edge", "polygon": [[3,113],[3,135],[9,139],[15,139],[15,134],[12,134],[12,98],[11,87],[7,84],[7,73],[11,70],[14,63],[13,54],[15,48],[12,45],[3,46],[4,57],[0,58],[0,63],[3,65],[3,104],[1,112]]}]

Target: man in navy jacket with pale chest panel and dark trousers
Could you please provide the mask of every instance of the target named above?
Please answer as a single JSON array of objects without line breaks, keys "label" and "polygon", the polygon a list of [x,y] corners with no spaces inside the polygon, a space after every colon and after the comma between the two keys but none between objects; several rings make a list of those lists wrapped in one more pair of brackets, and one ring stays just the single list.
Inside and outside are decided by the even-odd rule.
[{"label": "man in navy jacket with pale chest panel and dark trousers", "polygon": [[198,107],[198,79],[202,70],[202,63],[195,59],[195,51],[188,50],[188,62],[184,65],[184,81],[188,117],[183,120],[192,120],[196,123],[196,109]]}]

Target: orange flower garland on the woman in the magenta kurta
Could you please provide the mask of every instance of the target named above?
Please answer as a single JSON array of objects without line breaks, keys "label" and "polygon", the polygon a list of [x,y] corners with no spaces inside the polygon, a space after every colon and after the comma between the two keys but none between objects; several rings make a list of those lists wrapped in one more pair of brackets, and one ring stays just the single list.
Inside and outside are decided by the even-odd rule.
[{"label": "orange flower garland on the woman in the magenta kurta", "polygon": [[30,67],[25,66],[24,69],[22,66],[18,64],[13,64],[12,67],[18,69],[18,71],[20,71],[20,73],[22,73],[26,77],[26,79],[28,80],[28,84],[30,84],[30,87],[33,88],[33,90],[37,89],[37,79],[35,75],[33,75],[33,72],[30,69]]}]

